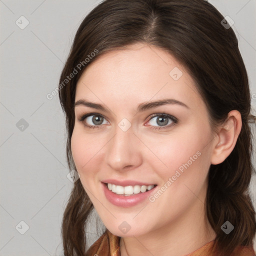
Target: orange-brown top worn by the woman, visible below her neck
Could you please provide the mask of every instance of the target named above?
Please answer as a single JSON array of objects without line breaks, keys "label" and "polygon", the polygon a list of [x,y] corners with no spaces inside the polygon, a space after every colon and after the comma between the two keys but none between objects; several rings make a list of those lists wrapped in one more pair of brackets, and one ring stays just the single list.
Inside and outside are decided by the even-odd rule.
[{"label": "orange-brown top worn by the woman, visible below her neck", "polygon": [[[87,256],[121,256],[119,249],[120,236],[112,234],[108,229],[89,247]],[[214,240],[187,254],[186,256],[211,256]],[[237,246],[231,256],[255,256],[252,247]]]}]

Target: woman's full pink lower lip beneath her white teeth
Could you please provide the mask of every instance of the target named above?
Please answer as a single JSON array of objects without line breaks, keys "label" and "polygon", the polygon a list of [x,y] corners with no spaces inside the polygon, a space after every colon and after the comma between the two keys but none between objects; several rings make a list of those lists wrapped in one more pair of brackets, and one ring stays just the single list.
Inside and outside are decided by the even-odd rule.
[{"label": "woman's full pink lower lip beneath her white teeth", "polygon": [[101,184],[103,186],[103,191],[104,191],[104,194],[105,194],[106,198],[108,199],[108,201],[116,206],[125,207],[125,208],[136,205],[136,204],[144,201],[157,187],[157,186],[155,186],[154,188],[150,189],[149,191],[146,191],[143,193],[137,193],[134,195],[126,196],[126,195],[116,194],[116,193],[112,192],[111,190],[109,190],[107,188],[106,184],[103,182],[101,182]]}]

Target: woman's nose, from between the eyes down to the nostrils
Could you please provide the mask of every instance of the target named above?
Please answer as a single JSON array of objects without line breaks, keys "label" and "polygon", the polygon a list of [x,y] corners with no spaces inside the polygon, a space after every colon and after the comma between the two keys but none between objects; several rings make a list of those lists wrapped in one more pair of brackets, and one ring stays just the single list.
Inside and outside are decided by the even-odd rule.
[{"label": "woman's nose, from between the eyes down to the nostrils", "polygon": [[106,162],[111,169],[133,169],[142,162],[141,142],[132,126],[126,131],[116,126],[115,134],[106,146]]}]

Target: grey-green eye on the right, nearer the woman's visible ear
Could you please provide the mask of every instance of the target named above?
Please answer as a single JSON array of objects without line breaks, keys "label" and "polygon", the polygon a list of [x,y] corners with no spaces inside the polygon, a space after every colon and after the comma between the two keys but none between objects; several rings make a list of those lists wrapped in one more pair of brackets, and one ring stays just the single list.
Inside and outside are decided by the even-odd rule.
[{"label": "grey-green eye on the right, nearer the woman's visible ear", "polygon": [[[170,121],[169,121],[170,120]],[[157,113],[150,117],[149,121],[151,126],[154,126],[152,129],[162,129],[168,128],[177,123],[177,118],[172,115]],[[159,126],[155,126],[159,125]]]}]

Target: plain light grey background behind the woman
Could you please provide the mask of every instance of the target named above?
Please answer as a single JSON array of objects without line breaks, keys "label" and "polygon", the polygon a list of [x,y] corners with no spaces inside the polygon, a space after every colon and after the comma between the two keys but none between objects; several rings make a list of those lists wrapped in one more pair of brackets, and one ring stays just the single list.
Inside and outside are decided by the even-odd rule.
[{"label": "plain light grey background behind the woman", "polygon": [[[0,0],[0,255],[61,253],[61,218],[73,184],[66,177],[58,96],[48,100],[46,95],[58,84],[78,25],[99,2]],[[255,109],[256,0],[210,2],[234,20]],[[21,15],[29,21],[24,29],[15,23]],[[24,24],[22,19],[19,25]],[[255,180],[250,186],[254,205]],[[26,224],[20,221],[29,226],[24,234]],[[89,231],[91,244],[98,236]]]}]

